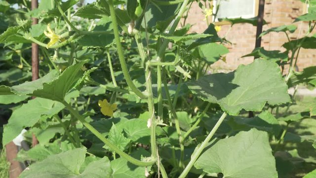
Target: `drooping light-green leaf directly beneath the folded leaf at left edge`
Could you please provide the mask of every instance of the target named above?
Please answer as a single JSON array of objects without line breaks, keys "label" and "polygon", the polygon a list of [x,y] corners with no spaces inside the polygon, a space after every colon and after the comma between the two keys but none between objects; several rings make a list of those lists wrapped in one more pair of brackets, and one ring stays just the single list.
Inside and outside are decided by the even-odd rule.
[{"label": "drooping light-green leaf directly beneath the folded leaf at left edge", "polygon": [[6,145],[21,133],[25,127],[32,127],[42,115],[52,117],[64,108],[59,102],[35,98],[13,111],[8,124],[4,126],[2,144]]}]

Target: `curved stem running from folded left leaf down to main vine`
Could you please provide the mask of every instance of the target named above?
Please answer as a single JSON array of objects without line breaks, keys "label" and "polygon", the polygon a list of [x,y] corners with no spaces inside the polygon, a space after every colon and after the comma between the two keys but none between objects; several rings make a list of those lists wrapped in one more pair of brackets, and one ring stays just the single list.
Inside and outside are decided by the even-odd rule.
[{"label": "curved stem running from folded left leaf down to main vine", "polygon": [[73,114],[83,124],[83,126],[85,126],[92,134],[98,137],[103,143],[105,143],[113,151],[118,153],[119,156],[125,158],[130,163],[133,163],[134,165],[137,165],[137,166],[145,167],[145,166],[151,166],[155,164],[155,162],[157,161],[157,157],[151,158],[149,161],[140,161],[129,156],[128,154],[120,150],[115,144],[111,143],[107,138],[105,138],[101,133],[99,133],[99,131],[94,129],[88,122],[86,122],[84,118],[79,114],[79,112],[74,110],[70,104],[68,104],[66,101],[63,101],[62,103],[66,106],[66,108],[70,111],[70,113]]}]

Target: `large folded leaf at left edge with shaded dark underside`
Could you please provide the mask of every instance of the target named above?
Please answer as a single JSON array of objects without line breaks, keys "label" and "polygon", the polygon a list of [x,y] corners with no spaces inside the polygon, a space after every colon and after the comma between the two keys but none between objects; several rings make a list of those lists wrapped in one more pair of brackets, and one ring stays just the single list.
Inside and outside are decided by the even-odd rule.
[{"label": "large folded leaf at left edge with shaded dark underside", "polygon": [[[11,94],[12,92],[18,95],[34,95],[42,98],[47,98],[55,101],[63,101],[66,93],[75,87],[77,81],[82,77],[82,65],[86,61],[78,62],[68,67],[62,74],[52,70],[44,77],[10,88],[1,86],[0,94]],[[11,92],[9,92],[11,91]]]}]

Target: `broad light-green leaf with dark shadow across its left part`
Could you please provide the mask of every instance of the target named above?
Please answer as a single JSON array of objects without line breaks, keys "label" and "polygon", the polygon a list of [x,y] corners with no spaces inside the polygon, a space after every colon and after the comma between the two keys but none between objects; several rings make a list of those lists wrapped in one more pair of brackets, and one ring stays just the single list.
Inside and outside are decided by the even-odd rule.
[{"label": "broad light-green leaf with dark shadow across its left part", "polygon": [[236,71],[211,74],[187,83],[201,99],[220,104],[230,115],[241,109],[261,111],[266,102],[277,105],[290,101],[287,86],[275,62],[256,59]]}]

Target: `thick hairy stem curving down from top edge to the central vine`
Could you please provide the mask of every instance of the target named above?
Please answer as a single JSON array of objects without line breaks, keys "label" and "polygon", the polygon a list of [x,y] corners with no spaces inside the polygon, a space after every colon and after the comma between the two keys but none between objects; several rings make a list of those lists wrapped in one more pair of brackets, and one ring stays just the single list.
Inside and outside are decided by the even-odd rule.
[{"label": "thick hairy stem curving down from top edge to the central vine", "polygon": [[123,55],[123,48],[122,48],[122,45],[121,45],[120,39],[119,39],[118,23],[117,23],[117,17],[116,17],[114,5],[113,5],[113,0],[109,0],[108,3],[109,3],[111,19],[112,19],[112,23],[113,23],[115,42],[116,42],[117,49],[118,49],[118,59],[119,59],[119,63],[120,63],[121,68],[122,68],[124,78],[126,80],[128,87],[131,88],[137,96],[139,96],[142,99],[146,99],[148,96],[146,96],[142,91],[140,91],[135,86],[135,84],[133,83],[133,81],[128,73],[128,69],[127,69],[126,62],[125,62],[124,55]]}]

